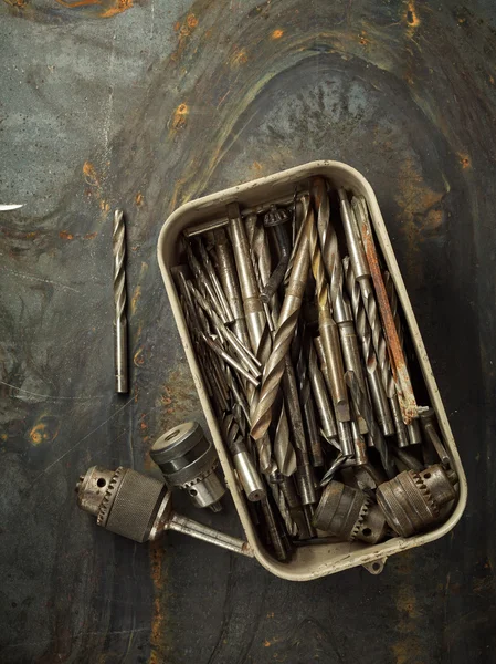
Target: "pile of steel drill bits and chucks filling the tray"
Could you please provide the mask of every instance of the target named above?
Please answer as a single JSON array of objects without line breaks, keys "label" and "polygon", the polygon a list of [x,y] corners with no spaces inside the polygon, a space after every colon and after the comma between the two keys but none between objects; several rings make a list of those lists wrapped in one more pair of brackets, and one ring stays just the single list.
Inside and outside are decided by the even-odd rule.
[{"label": "pile of steel drill bits and chucks filling the tray", "polygon": [[[456,476],[435,413],[416,404],[366,199],[317,176],[284,203],[231,203],[225,219],[184,231],[183,256],[173,274],[191,342],[274,556],[286,561],[295,546],[328,537],[376,543],[434,522]],[[404,473],[429,509],[399,527]],[[436,509],[431,475],[444,481]]]}]

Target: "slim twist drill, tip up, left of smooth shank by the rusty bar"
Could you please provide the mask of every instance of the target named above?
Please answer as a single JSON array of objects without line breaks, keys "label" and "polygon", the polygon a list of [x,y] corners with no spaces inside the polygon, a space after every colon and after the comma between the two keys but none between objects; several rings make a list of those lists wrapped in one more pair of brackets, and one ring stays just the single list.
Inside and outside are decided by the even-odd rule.
[{"label": "slim twist drill, tip up, left of smooth shank by the rusty bar", "polygon": [[[355,276],[350,257],[342,259],[346,290],[348,292],[351,310],[355,318],[358,338],[361,342],[361,352],[367,371],[370,397],[373,403],[377,421],[384,436],[394,434],[394,423],[389,408],[384,386],[379,375],[379,365],[372,344],[372,331],[367,319],[363,301],[361,299],[360,284]],[[360,386],[361,387],[361,386]]]}]

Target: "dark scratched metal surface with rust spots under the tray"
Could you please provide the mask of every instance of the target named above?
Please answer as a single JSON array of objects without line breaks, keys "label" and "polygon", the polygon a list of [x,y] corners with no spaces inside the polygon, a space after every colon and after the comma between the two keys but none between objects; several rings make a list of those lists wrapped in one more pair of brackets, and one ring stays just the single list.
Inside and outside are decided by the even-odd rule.
[{"label": "dark scratched metal surface with rust spots under the tray", "polygon": [[[25,204],[0,217],[2,662],[494,662],[496,10],[467,6],[0,3],[0,201]],[[148,468],[155,437],[200,416],[156,261],[163,219],[316,158],[378,194],[467,470],[465,517],[380,577],[304,584],[180,536],[148,548],[97,530],[80,473]],[[232,509],[210,522],[239,530]]]}]

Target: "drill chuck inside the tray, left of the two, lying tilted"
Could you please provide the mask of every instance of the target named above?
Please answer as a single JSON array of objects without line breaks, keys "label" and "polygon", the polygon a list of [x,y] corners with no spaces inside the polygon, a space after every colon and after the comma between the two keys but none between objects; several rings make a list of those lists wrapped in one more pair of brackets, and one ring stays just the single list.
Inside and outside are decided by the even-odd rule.
[{"label": "drill chuck inside the tray, left of the two, lying tilted", "polygon": [[324,489],[313,523],[342,540],[358,539],[369,544],[384,539],[388,529],[383,513],[370,498],[336,480]]}]

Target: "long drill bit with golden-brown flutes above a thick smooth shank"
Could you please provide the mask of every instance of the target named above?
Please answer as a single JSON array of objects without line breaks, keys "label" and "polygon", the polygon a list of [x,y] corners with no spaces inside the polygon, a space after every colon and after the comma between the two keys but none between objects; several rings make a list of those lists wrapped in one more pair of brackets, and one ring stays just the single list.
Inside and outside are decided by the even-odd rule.
[{"label": "long drill bit with golden-brown flutes above a thick smooth shank", "polygon": [[[342,279],[340,279],[341,266],[337,248],[337,237],[329,222],[329,199],[323,178],[314,178],[312,195],[317,208],[317,227],[320,230],[321,245],[327,252],[324,259],[324,251],[318,243],[317,228],[312,214],[312,225],[307,226],[308,246],[310,251],[312,271],[316,284],[316,295],[318,304],[318,328],[326,355],[326,364],[331,380],[331,396],[336,411],[336,418],[340,422],[350,419],[350,409],[348,402],[348,392],[345,384],[345,367],[342,364],[341,346],[339,343],[339,332],[331,317],[329,308],[329,297],[324,263],[326,263],[330,273],[330,292],[334,297],[333,307],[342,304]],[[339,269],[337,264],[339,263]],[[333,294],[334,293],[334,294]]]}]

